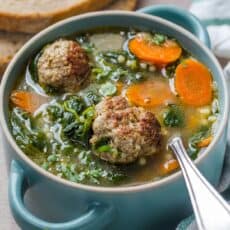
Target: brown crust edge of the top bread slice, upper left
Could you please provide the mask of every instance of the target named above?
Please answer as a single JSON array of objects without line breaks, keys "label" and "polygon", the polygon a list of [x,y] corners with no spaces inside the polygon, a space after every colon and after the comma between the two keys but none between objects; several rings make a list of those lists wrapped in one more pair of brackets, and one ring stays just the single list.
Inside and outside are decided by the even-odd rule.
[{"label": "brown crust edge of the top bread slice, upper left", "polygon": [[102,9],[111,2],[112,0],[78,0],[70,7],[45,13],[16,14],[0,11],[0,29],[9,32],[36,33],[61,19]]}]

